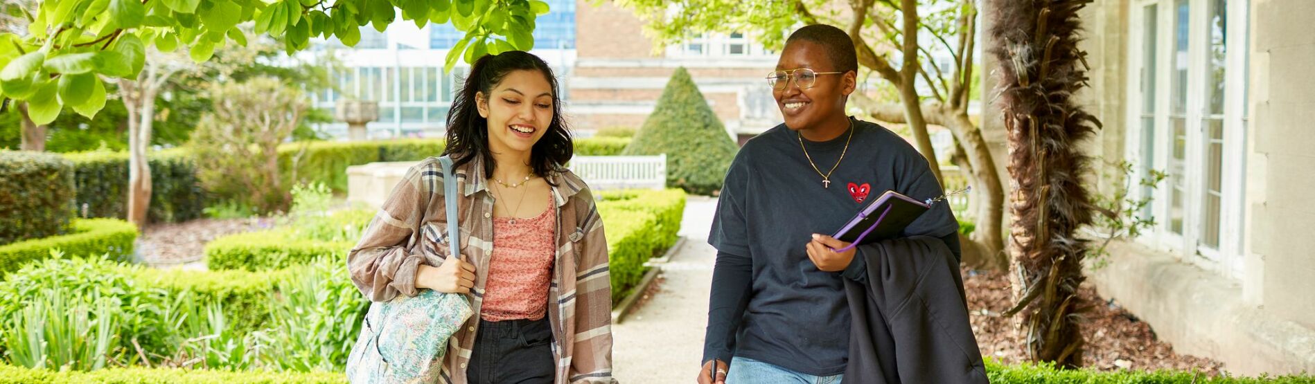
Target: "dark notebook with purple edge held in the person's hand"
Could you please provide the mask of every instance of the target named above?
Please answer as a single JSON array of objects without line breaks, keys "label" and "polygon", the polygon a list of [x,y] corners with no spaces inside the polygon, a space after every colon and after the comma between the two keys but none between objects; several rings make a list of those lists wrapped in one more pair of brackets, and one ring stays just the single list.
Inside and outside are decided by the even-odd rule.
[{"label": "dark notebook with purple edge held in the person's hand", "polygon": [[896,238],[910,222],[917,220],[923,212],[927,212],[927,209],[931,209],[931,205],[927,205],[927,203],[918,201],[899,192],[886,191],[886,193],[881,193],[881,197],[864,206],[859,214],[855,214],[853,218],[846,222],[831,237],[855,245]]}]

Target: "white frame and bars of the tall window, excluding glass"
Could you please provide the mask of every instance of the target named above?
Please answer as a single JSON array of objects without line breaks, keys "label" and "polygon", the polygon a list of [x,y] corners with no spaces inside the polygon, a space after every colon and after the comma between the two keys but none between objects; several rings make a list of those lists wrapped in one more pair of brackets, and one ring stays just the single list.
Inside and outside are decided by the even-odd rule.
[{"label": "white frame and bars of the tall window, excluding glass", "polygon": [[[1186,196],[1184,201],[1184,233],[1174,234],[1169,229],[1169,203],[1170,181],[1166,179],[1155,189],[1152,214],[1160,220],[1155,228],[1144,233],[1136,241],[1164,251],[1170,251],[1182,260],[1202,266],[1220,275],[1239,279],[1244,272],[1244,209],[1245,197],[1245,122],[1247,108],[1247,59],[1249,43],[1247,42],[1249,29],[1248,0],[1227,0],[1227,55],[1224,72],[1224,133],[1223,133],[1223,159],[1220,168],[1222,192],[1220,200],[1220,229],[1219,249],[1210,249],[1201,243],[1203,237],[1203,213],[1206,193],[1206,132],[1205,117],[1208,108],[1206,97],[1207,49],[1208,49],[1208,11],[1210,0],[1189,1],[1189,42],[1187,42],[1187,100],[1186,100]],[[1145,36],[1145,7],[1156,5],[1156,93],[1143,95],[1141,68],[1144,59]],[[1141,162],[1141,117],[1143,97],[1155,97],[1155,168],[1166,171],[1172,156],[1172,128],[1169,126],[1169,109],[1172,96],[1172,55],[1174,50],[1174,17],[1177,9],[1176,0],[1137,0],[1131,4],[1130,28],[1131,34],[1127,45],[1128,76],[1126,83],[1127,100],[1126,121],[1128,130],[1126,139],[1126,156],[1140,170]],[[1136,174],[1134,178],[1140,178]],[[1136,185],[1134,183],[1132,185]],[[1134,187],[1130,191],[1134,196],[1141,196],[1141,188]]]}]

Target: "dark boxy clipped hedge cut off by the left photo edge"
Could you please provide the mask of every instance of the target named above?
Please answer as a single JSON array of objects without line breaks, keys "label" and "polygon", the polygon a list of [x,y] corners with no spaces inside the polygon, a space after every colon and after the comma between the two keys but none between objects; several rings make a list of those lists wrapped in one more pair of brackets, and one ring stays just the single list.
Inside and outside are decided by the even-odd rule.
[{"label": "dark boxy clipped hedge cut off by the left photo edge", "polygon": [[68,231],[74,167],[59,155],[0,151],[0,245]]}]

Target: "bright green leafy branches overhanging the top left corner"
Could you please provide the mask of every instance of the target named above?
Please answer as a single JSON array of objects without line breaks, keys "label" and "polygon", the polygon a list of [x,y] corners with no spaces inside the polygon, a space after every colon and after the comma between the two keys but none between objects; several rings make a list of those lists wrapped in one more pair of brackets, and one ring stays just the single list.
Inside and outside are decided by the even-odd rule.
[{"label": "bright green leafy branches overhanging the top left corner", "polygon": [[49,124],[64,107],[93,117],[105,107],[104,78],[135,79],[146,49],[187,49],[205,62],[227,43],[246,45],[238,24],[279,38],[288,53],[312,38],[337,37],[347,46],[360,28],[379,32],[396,21],[451,24],[466,33],[447,55],[471,62],[485,53],[530,50],[539,0],[45,0],[33,12],[4,12],[28,21],[26,33],[0,32],[0,101],[26,101],[36,124]]}]

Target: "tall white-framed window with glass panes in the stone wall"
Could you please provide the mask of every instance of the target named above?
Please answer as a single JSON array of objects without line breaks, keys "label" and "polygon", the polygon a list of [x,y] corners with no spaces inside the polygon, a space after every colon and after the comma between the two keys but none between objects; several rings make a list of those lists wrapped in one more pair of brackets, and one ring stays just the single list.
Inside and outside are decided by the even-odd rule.
[{"label": "tall white-framed window with glass panes in the stone wall", "polygon": [[1152,197],[1139,214],[1157,218],[1144,239],[1237,275],[1248,67],[1227,63],[1248,59],[1236,49],[1247,45],[1245,26],[1228,28],[1245,25],[1247,14],[1230,7],[1245,9],[1247,0],[1149,0],[1134,9],[1127,147],[1140,178],[1168,174],[1159,188],[1136,189]]}]

